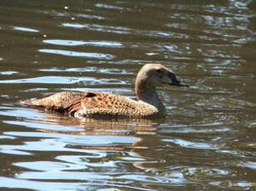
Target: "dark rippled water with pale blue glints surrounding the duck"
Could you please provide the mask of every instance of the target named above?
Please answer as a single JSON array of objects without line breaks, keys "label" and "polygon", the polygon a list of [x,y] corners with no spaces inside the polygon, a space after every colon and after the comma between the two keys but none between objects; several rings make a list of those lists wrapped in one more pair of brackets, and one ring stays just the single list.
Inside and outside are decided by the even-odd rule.
[{"label": "dark rippled water with pale blue glints surrounding the duck", "polygon": [[[0,2],[3,190],[256,190],[256,5],[229,1]],[[19,100],[58,91],[135,98],[158,62],[157,120],[78,120]]]}]

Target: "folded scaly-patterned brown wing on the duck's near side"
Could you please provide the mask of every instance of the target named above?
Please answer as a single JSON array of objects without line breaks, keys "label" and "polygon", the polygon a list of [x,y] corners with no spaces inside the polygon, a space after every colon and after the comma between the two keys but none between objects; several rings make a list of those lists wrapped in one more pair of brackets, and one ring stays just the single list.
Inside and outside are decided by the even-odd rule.
[{"label": "folded scaly-patterned brown wing on the duck's near side", "polygon": [[[143,118],[158,113],[158,109],[143,101],[132,100],[125,96],[110,93],[91,92],[95,94],[90,98],[79,100],[80,110],[75,108],[78,117],[136,117]],[[73,110],[71,110],[73,112]]]}]

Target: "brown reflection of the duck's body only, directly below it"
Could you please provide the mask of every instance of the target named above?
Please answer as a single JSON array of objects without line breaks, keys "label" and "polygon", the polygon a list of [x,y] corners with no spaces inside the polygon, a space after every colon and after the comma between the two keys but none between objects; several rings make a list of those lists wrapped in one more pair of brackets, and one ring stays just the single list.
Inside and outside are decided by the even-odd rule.
[{"label": "brown reflection of the duck's body only, directly below it", "polygon": [[[45,114],[43,123],[62,126],[80,126],[83,131],[45,130],[73,135],[154,135],[158,122],[147,119],[93,119],[75,118],[54,113]],[[79,129],[82,130],[82,129]]]}]

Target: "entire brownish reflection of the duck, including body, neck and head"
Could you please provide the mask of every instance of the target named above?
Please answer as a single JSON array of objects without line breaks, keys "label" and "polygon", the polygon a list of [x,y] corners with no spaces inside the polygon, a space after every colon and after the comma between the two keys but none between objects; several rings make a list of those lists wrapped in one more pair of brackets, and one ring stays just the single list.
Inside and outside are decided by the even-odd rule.
[{"label": "entire brownish reflection of the duck, including body, neck and head", "polygon": [[[113,119],[113,120],[97,120],[83,118],[78,119],[69,116],[61,116],[59,114],[45,114],[44,123],[62,126],[76,126],[78,130],[53,130],[53,129],[37,129],[41,132],[68,134],[68,135],[116,135],[132,136],[134,142],[131,144],[118,145],[76,145],[77,149],[96,149],[96,150],[120,150],[128,151],[129,155],[140,158],[139,162],[134,161],[133,166],[138,169],[158,168],[162,165],[159,163],[161,154],[155,153],[152,148],[155,145],[163,144],[160,137],[157,136],[157,126],[164,119],[146,120],[146,119]],[[122,141],[121,141],[122,142]],[[144,161],[141,161],[144,159]]]}]

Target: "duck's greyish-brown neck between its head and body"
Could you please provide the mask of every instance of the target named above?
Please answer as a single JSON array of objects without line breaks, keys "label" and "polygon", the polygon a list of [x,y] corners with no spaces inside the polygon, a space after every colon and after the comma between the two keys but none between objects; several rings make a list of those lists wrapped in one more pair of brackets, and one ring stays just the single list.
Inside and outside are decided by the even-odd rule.
[{"label": "duck's greyish-brown neck between its head and body", "polygon": [[138,100],[143,100],[144,102],[155,106],[158,110],[164,110],[165,107],[162,101],[158,97],[158,93],[154,88],[147,88],[143,84],[137,84],[135,86],[135,91]]}]

